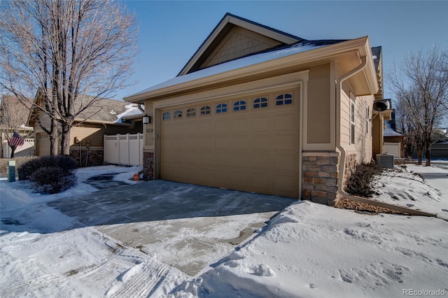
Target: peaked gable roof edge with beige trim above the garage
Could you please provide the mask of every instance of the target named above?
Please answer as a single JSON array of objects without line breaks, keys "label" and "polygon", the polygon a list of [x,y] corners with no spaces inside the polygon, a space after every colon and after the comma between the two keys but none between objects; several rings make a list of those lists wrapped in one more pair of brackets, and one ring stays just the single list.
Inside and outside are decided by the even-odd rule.
[{"label": "peaked gable roof edge with beige trim above the garage", "polygon": [[288,34],[286,32],[267,27],[263,24],[247,20],[244,17],[232,15],[226,13],[216,27],[211,31],[211,34],[205,39],[205,41],[196,50],[193,57],[187,62],[178,76],[184,76],[188,73],[192,73],[201,68],[201,65],[206,61],[207,57],[211,55],[214,50],[222,43],[226,36],[230,34],[235,27],[241,27],[251,32],[260,34],[274,41],[277,41],[279,45],[291,45],[298,41],[304,41],[303,38]]}]

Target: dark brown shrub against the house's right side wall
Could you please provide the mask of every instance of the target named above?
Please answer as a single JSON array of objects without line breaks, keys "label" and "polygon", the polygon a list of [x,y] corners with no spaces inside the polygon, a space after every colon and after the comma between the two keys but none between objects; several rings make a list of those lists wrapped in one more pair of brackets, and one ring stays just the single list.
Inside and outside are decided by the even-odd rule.
[{"label": "dark brown shrub against the house's right side wall", "polygon": [[381,173],[381,166],[375,162],[358,164],[347,182],[346,192],[360,197],[372,197],[372,179]]}]

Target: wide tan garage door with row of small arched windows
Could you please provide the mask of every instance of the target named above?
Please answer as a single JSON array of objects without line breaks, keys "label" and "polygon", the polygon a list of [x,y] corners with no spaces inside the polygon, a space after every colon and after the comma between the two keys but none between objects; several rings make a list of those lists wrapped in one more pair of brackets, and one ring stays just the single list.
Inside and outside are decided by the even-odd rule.
[{"label": "wide tan garage door with row of small arched windows", "polygon": [[160,109],[160,178],[299,197],[298,94]]}]

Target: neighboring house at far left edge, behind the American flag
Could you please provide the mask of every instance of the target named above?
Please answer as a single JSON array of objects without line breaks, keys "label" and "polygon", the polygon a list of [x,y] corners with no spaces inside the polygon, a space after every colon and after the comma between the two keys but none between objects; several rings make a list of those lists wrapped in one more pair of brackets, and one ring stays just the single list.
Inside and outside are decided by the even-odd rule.
[{"label": "neighboring house at far left edge, behind the American flag", "polygon": [[25,138],[25,144],[15,149],[14,156],[34,155],[34,129],[27,126],[27,119],[31,114],[31,104],[25,106],[17,97],[2,95],[0,102],[0,157],[9,158],[11,149],[8,138],[18,132]]}]

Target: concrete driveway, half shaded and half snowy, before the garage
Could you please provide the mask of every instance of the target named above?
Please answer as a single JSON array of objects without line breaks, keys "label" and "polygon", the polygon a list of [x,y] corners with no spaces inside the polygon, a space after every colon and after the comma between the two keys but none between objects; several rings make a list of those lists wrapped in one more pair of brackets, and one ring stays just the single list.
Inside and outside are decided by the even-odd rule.
[{"label": "concrete driveway, half shaded and half snowy, before the garage", "polygon": [[[195,276],[296,201],[165,180],[48,203],[99,232]],[[75,228],[76,228],[75,226]]]}]

